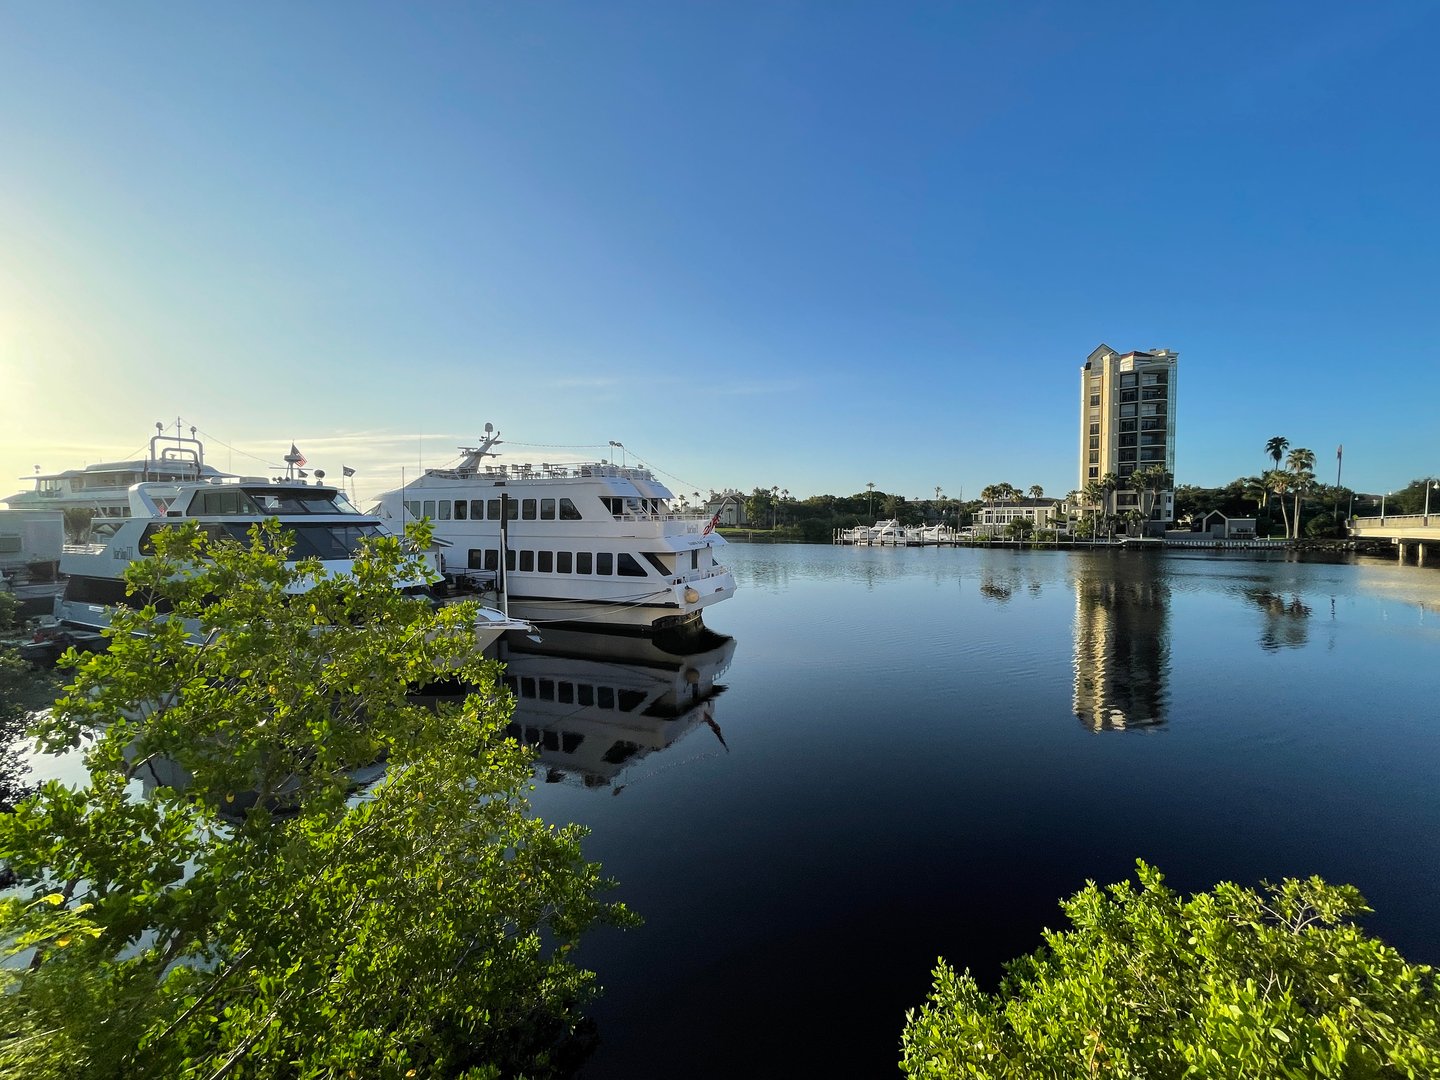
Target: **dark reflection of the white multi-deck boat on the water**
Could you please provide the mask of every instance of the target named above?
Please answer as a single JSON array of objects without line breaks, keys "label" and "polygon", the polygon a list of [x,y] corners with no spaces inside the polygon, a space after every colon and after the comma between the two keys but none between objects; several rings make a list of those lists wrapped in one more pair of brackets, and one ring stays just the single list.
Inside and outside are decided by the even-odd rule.
[{"label": "dark reflection of the white multi-deck boat on the water", "polygon": [[500,644],[516,696],[510,734],[539,752],[547,783],[564,780],[619,793],[625,775],[698,727],[729,750],[714,717],[716,680],[734,638],[697,628],[625,636],[547,629],[539,642],[510,634]]}]

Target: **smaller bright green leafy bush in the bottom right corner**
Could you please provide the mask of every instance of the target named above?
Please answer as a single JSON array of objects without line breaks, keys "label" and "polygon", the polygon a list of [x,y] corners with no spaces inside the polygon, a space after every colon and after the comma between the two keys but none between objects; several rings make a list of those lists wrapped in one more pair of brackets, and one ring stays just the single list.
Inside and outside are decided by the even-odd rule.
[{"label": "smaller bright green leafy bush in the bottom right corner", "polygon": [[1352,923],[1351,886],[1221,884],[1184,900],[1139,864],[1139,887],[1063,901],[1066,932],[1008,966],[999,989],[943,960],[906,1014],[901,1068],[942,1077],[1431,1077],[1434,972]]}]

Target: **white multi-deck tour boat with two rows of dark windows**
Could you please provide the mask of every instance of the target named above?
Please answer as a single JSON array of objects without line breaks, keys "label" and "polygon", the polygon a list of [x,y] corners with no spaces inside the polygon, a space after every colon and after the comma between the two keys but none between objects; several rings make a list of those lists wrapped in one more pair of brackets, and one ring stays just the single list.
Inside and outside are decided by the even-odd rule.
[{"label": "white multi-deck tour boat with two rows of dark windows", "polygon": [[734,593],[734,575],[716,560],[724,539],[714,520],[671,508],[648,468],[487,464],[498,444],[487,423],[458,465],[380,495],[389,526],[431,521],[456,586],[497,589],[507,611],[541,628],[647,634],[697,622]]}]

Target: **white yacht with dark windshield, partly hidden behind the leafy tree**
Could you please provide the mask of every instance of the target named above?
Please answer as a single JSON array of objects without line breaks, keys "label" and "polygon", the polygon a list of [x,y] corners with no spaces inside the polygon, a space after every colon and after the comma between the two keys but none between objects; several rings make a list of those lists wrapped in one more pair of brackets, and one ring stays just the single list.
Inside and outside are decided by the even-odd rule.
[{"label": "white yacht with dark windshield, partly hidden behind the leafy tree", "polygon": [[[127,602],[125,569],[150,553],[151,537],[167,526],[197,521],[207,537],[248,543],[253,523],[276,520],[294,534],[291,557],[320,559],[327,575],[351,573],[360,543],[387,531],[376,517],[356,510],[343,491],[320,482],[262,477],[144,482],[132,485],[128,495],[130,513],[105,543],[69,546],[60,556],[66,582],[65,593],[55,600],[55,654],[71,644],[104,648],[104,631],[117,605]],[[308,588],[300,585],[297,592]],[[431,586],[415,580],[405,590],[429,593]],[[475,647],[482,649],[510,629],[533,632],[534,628],[494,608],[481,608]]]}]

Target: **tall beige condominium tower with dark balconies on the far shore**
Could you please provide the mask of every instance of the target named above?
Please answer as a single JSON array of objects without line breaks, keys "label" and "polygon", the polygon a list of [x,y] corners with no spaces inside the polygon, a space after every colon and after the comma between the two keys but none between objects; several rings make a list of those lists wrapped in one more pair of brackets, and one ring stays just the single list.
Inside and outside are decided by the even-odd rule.
[{"label": "tall beige condominium tower with dark balconies on the far shore", "polygon": [[[1113,472],[1112,508],[1125,514],[1151,505],[1148,531],[1175,520],[1175,361],[1178,353],[1116,353],[1102,344],[1080,370],[1080,490]],[[1145,495],[1130,487],[1138,468],[1159,465],[1165,490]]]}]

